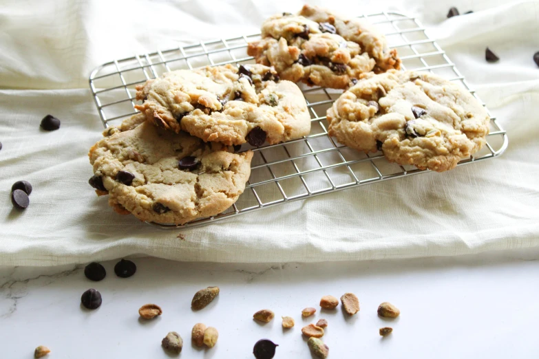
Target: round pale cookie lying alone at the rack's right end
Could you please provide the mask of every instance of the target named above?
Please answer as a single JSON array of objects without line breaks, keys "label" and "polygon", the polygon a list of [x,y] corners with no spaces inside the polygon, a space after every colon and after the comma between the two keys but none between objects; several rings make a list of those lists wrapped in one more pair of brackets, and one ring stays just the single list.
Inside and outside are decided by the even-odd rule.
[{"label": "round pale cookie lying alone at the rack's right end", "polygon": [[488,113],[469,91],[423,72],[365,74],[327,118],[346,146],[437,172],[479,151],[489,133]]}]

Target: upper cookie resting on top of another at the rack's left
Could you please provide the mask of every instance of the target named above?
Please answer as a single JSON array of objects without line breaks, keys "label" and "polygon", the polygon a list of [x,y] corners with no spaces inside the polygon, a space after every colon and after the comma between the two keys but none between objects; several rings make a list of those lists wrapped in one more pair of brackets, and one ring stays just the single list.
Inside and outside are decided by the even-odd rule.
[{"label": "upper cookie resting on top of another at the rack's left", "polygon": [[[263,65],[178,70],[137,87],[136,109],[167,130],[208,142],[260,146],[308,135],[310,116],[297,85]],[[254,132],[253,132],[254,131]]]}]

